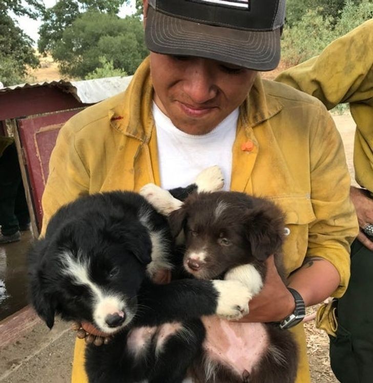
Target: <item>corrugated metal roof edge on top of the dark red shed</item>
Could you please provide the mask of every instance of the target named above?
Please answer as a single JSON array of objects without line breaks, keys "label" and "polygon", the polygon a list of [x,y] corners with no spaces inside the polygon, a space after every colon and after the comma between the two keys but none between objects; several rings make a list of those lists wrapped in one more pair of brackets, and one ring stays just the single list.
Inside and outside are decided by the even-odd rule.
[{"label": "corrugated metal roof edge on top of the dark red shed", "polygon": [[[23,88],[37,88],[37,87],[57,87],[73,94],[78,101],[82,103],[95,103],[105,100],[108,97],[114,96],[128,87],[132,76],[126,77],[106,77],[96,78],[93,80],[81,80],[81,81],[46,81],[37,83],[24,83],[13,85],[11,87],[0,88],[0,95],[3,93],[11,92],[15,89]],[[1,83],[0,83],[1,84]]]}]

